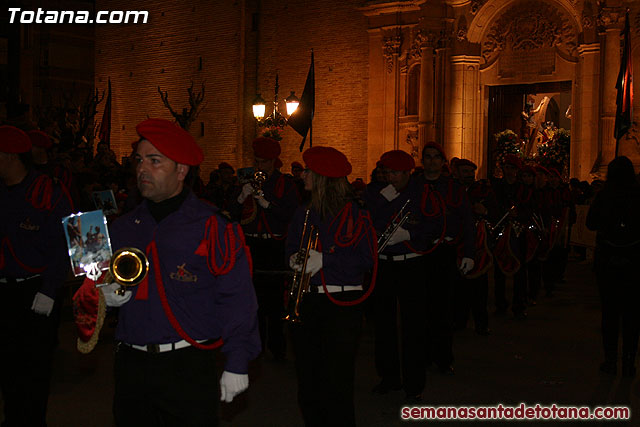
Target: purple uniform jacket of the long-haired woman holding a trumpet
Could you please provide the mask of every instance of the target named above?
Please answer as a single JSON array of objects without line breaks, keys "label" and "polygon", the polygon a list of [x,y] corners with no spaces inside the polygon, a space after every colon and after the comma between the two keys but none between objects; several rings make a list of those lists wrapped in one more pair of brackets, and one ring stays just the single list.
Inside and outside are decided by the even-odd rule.
[{"label": "purple uniform jacket of the long-haired woman holding a trumpet", "polygon": [[[300,206],[293,215],[289,225],[286,241],[286,261],[300,249],[300,238],[304,224],[306,208]],[[362,216],[361,216],[362,215]],[[361,285],[364,274],[373,267],[373,260],[377,254],[373,253],[376,236],[368,220],[368,212],[359,209],[355,202],[351,203],[350,217],[352,221],[352,235],[349,234],[349,221],[345,221],[340,230],[340,242],[354,240],[352,245],[340,246],[336,243],[336,233],[341,223],[340,217],[328,218],[324,221],[313,210],[309,213],[309,223],[318,227],[319,242],[322,251],[322,270],[311,277],[312,285],[322,285],[322,275],[327,285]],[[358,219],[363,227],[359,235],[355,235]],[[367,218],[367,219],[365,219]],[[344,239],[344,240],[343,240]]]}]

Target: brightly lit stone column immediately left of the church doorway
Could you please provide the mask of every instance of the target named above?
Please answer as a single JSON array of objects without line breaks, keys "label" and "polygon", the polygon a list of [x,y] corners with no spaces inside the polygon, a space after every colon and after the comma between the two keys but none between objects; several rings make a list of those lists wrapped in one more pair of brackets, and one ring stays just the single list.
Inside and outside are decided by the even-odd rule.
[{"label": "brightly lit stone column immediately left of the church doorway", "polygon": [[451,57],[448,108],[445,118],[447,157],[468,158],[480,166],[483,162],[480,128],[479,56]]}]

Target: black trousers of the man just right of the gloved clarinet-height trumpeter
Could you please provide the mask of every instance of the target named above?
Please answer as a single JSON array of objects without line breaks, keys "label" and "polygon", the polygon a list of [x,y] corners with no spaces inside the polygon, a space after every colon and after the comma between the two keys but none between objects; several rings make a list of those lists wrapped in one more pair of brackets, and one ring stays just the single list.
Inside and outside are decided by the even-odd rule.
[{"label": "black trousers of the man just right of the gloved clarinet-height trumpeter", "polygon": [[458,280],[456,250],[441,244],[423,256],[426,267],[427,362],[453,363],[453,298]]}]

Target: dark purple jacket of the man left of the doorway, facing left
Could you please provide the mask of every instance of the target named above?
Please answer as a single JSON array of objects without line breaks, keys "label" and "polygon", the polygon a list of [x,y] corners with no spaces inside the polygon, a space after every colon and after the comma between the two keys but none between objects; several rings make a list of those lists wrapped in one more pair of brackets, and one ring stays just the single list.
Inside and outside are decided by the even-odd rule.
[{"label": "dark purple jacket of the man left of the doorway, facing left", "polygon": [[424,175],[417,181],[429,184],[442,196],[446,205],[446,237],[463,245],[463,256],[473,258],[475,254],[476,226],[473,221],[471,203],[465,188],[451,177],[440,176],[435,181],[428,181]]}]

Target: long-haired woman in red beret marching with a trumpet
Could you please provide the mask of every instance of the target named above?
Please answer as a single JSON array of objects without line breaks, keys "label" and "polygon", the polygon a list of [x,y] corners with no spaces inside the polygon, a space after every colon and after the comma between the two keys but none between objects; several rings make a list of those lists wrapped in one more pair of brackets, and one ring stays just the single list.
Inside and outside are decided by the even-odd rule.
[{"label": "long-haired woman in red beret marching with a trumpet", "polygon": [[[330,147],[303,154],[308,205],[295,213],[286,241],[286,256],[301,270],[298,252],[304,224],[318,231],[305,273],[309,292],[300,305],[300,322],[291,324],[298,376],[298,403],[307,426],[355,425],[354,371],[362,327],[365,273],[374,267],[376,236],[369,214],[352,198],[347,175],[351,164]],[[308,215],[307,215],[308,212]],[[307,220],[305,221],[305,218]]]}]

